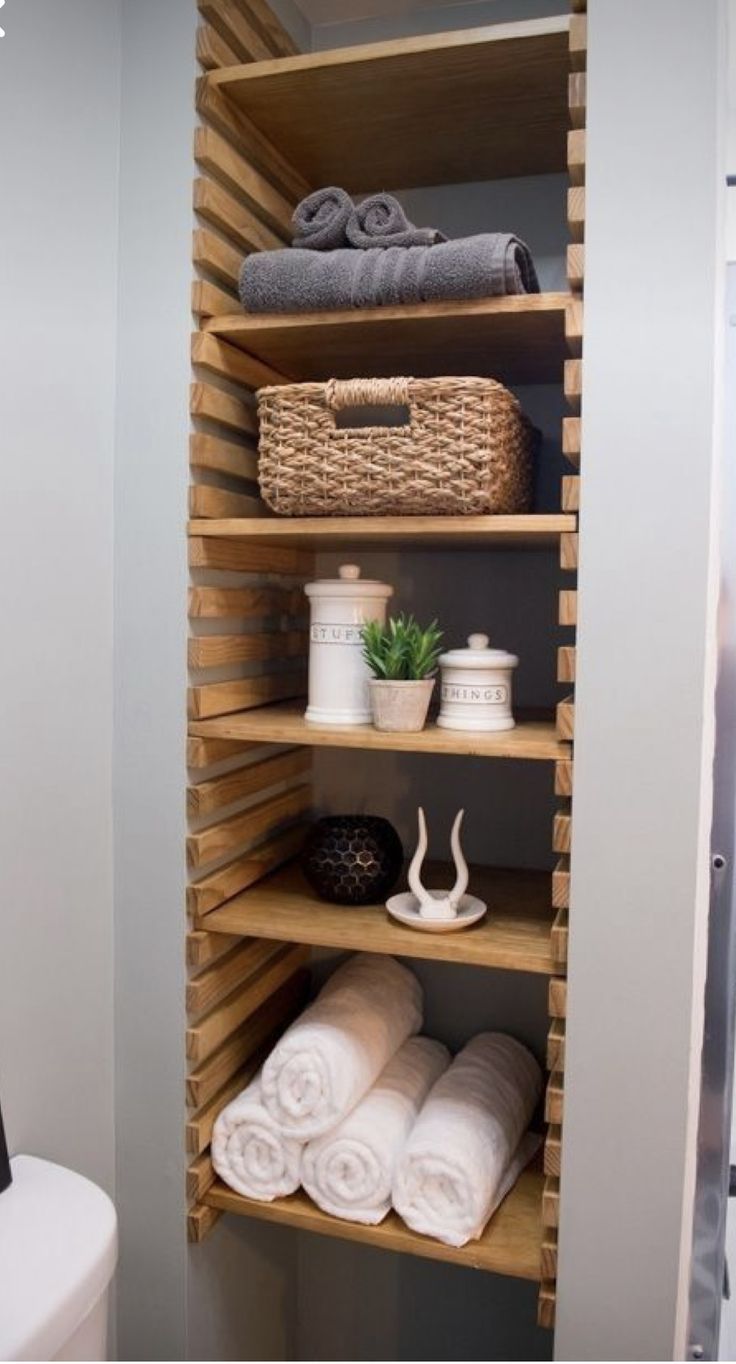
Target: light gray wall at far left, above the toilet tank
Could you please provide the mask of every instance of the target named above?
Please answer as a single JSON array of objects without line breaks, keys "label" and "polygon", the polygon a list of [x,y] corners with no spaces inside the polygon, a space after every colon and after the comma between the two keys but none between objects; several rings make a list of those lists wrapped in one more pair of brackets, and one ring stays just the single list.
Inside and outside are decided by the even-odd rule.
[{"label": "light gray wall at far left, above the toilet tank", "polygon": [[11,1151],[113,1192],[120,7],[0,18],[0,1099]]}]

